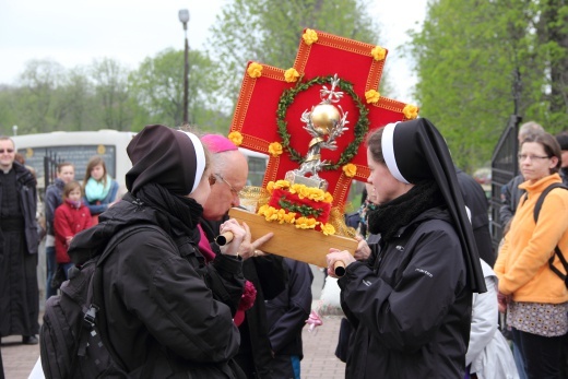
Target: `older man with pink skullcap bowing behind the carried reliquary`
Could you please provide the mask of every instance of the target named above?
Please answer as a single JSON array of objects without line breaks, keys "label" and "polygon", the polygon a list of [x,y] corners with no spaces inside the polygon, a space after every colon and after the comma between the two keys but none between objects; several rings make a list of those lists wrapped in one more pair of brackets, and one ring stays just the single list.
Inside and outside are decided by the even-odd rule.
[{"label": "older man with pink skullcap bowing behind the carried reliquary", "polygon": [[[218,235],[218,225],[227,218],[230,208],[240,204],[239,191],[247,183],[248,163],[245,155],[225,137],[208,134],[201,140],[213,153],[216,182],[211,187],[211,194],[203,206],[200,227],[211,249],[217,253],[218,247],[214,244],[214,238]],[[264,254],[260,250],[262,244],[270,238],[272,234],[251,241],[250,233],[247,233],[239,248],[239,256],[244,259],[242,274],[255,285],[257,297],[250,309],[244,315],[235,316],[236,322],[244,316],[239,324],[240,347],[235,360],[251,379],[277,379],[271,369],[273,357],[264,300],[270,300],[284,291],[287,270],[282,257]]]}]

